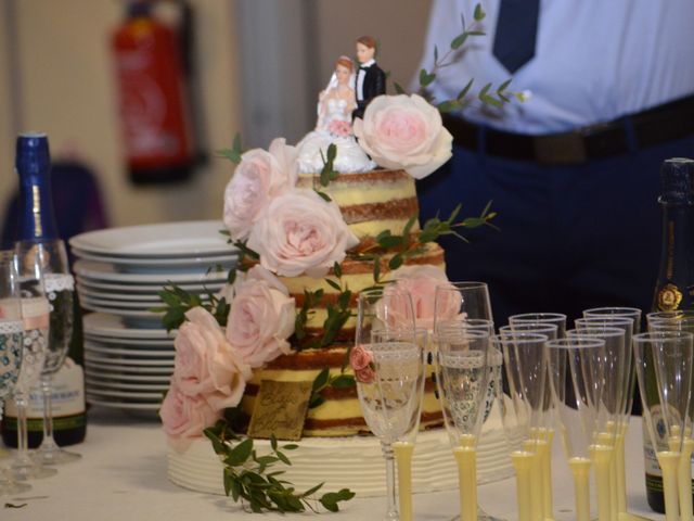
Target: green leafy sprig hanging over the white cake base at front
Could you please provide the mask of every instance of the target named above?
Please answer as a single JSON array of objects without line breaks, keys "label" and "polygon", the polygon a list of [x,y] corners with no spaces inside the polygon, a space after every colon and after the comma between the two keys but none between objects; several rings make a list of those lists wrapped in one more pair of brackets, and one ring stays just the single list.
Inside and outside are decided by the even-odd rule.
[{"label": "green leafy sprig hanging over the white cake base at front", "polygon": [[[292,466],[287,452],[298,448],[296,444],[280,445],[278,439],[270,436],[270,453],[259,455],[254,440],[242,440],[231,429],[226,419],[205,429],[205,436],[211,442],[215,453],[223,461],[224,493],[234,503],[241,503],[252,512],[304,512],[307,509],[318,512],[319,504],[331,512],[339,510],[339,503],[355,497],[349,488],[329,492],[316,497],[323,487],[319,483],[305,492],[297,492],[292,483],[282,479],[284,470],[273,470],[278,465]],[[232,443],[237,442],[237,443]]]}]

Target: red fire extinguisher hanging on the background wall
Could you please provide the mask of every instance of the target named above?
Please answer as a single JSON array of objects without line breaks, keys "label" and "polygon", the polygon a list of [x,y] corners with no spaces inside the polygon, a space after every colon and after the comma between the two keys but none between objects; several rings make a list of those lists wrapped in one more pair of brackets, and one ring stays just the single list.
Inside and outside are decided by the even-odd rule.
[{"label": "red fire extinguisher hanging on the background wall", "polygon": [[177,29],[156,20],[152,2],[133,0],[112,47],[130,179],[157,183],[188,178],[195,152]]}]

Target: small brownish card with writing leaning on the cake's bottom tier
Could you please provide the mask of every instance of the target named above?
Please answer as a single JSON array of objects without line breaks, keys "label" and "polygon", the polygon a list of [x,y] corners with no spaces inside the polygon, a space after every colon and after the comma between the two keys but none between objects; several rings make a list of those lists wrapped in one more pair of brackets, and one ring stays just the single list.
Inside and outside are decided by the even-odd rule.
[{"label": "small brownish card with writing leaning on the cake's bottom tier", "polygon": [[304,432],[313,382],[262,380],[250,416],[248,436],[297,441]]}]

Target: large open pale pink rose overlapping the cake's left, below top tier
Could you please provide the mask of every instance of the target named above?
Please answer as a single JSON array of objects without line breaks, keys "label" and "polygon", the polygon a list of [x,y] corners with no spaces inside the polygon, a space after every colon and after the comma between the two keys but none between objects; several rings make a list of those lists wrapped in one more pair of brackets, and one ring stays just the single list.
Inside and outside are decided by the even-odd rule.
[{"label": "large open pale pink rose overlapping the cake's left, below top tier", "polygon": [[247,245],[277,275],[321,277],[358,243],[334,202],[313,190],[294,189],[270,202]]}]

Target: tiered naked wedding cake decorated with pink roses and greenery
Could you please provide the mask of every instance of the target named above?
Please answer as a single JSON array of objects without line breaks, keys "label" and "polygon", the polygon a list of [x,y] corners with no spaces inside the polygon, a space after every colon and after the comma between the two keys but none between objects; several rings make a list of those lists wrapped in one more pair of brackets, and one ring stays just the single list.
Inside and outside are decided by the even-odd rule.
[{"label": "tiered naked wedding cake decorated with pink roses and greenery", "polygon": [[[297,490],[325,482],[363,495],[385,493],[381,446],[364,436],[370,431],[354,380],[349,384],[359,368],[345,367],[357,295],[395,281],[410,291],[417,326],[432,327],[435,287],[447,282],[445,259],[434,242],[436,227],[417,221],[414,181],[450,157],[452,138],[439,112],[415,94],[374,98],[352,128],[357,103],[342,97],[355,96],[339,90],[345,85],[357,85],[357,78],[340,59],[321,94],[316,130],[297,147],[278,138],[267,151],[240,154],[224,195],[224,224],[246,253],[244,270],[226,292],[223,319],[219,305],[187,313],[160,412],[169,478],[188,488],[229,493],[224,465],[203,437],[226,409],[247,420],[265,382],[316,386],[323,373],[287,479]],[[335,379],[342,384],[331,385]],[[448,434],[434,429],[442,424],[435,387],[429,376],[413,463],[415,492],[458,483]],[[480,481],[510,472],[500,414],[488,398]],[[271,446],[262,440],[254,445],[258,453]]]}]

